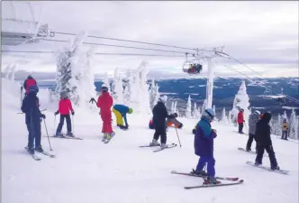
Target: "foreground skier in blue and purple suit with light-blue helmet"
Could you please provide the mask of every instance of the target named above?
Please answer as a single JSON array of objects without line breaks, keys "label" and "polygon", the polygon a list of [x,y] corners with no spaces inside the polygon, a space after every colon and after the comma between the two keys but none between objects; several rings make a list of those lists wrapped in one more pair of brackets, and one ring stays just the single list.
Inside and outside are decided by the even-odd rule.
[{"label": "foreground skier in blue and purple suit with light-blue helmet", "polygon": [[[213,139],[216,138],[216,130],[212,129],[211,122],[215,113],[211,108],[206,108],[201,120],[196,126],[195,132],[195,154],[199,156],[199,161],[196,170],[191,173],[207,176],[204,179],[204,184],[220,184],[221,182],[215,179],[215,160],[213,158]],[[204,171],[204,166],[207,163],[207,173]]]}]

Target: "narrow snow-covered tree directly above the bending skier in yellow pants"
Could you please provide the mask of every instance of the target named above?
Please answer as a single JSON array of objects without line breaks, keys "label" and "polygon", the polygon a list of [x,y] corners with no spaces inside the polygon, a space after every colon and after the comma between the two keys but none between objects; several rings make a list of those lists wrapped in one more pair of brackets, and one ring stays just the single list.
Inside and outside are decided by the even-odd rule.
[{"label": "narrow snow-covered tree directly above the bending skier in yellow pants", "polygon": [[114,69],[112,97],[113,97],[114,104],[123,104],[122,77],[120,76],[118,69]]}]

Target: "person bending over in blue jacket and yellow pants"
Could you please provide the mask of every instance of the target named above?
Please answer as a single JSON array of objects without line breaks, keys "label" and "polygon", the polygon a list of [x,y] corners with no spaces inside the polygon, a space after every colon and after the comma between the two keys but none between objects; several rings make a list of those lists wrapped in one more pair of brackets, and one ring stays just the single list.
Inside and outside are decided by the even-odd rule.
[{"label": "person bending over in blue jacket and yellow pants", "polygon": [[[128,107],[128,106],[124,106],[124,105],[114,105],[113,106],[113,113],[116,117],[116,124],[117,126],[119,126],[121,129],[128,129],[129,125],[127,122],[127,114],[131,114],[133,112],[133,109]],[[123,120],[124,120],[124,124],[123,125]]]}]

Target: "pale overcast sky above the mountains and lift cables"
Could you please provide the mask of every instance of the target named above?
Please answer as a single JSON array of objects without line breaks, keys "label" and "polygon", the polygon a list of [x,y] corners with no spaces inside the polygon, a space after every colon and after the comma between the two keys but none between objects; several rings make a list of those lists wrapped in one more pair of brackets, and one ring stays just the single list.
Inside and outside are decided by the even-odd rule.
[{"label": "pale overcast sky above the mountains and lift cables", "polygon": [[[32,2],[42,5],[41,23],[49,23],[54,32],[87,32],[90,35],[141,42],[163,43],[189,48],[218,47],[246,63],[264,77],[299,77],[298,70],[298,2]],[[9,9],[2,6],[3,18]],[[24,19],[30,16],[23,5],[16,9]],[[34,7],[35,14],[40,10]],[[26,20],[26,19],[25,19]],[[29,20],[29,19],[28,19]],[[52,39],[68,40],[59,35]],[[186,51],[153,47],[136,43],[86,39],[86,42],[121,44],[171,51]],[[3,50],[57,51],[64,42],[40,42],[18,47],[2,46]],[[96,47],[96,52],[125,52],[174,55],[158,51],[140,51],[112,47]],[[177,55],[177,54],[175,54]],[[181,54],[184,55],[184,54]],[[56,60],[50,54],[2,53],[2,65],[18,62],[18,69],[51,72]],[[142,60],[149,70],[165,75],[180,75],[184,57],[124,57],[96,55],[95,72],[112,73],[137,68]],[[238,75],[224,67],[238,69],[244,74],[252,71],[232,60],[216,59],[216,75]],[[204,72],[207,66],[204,64]]]}]

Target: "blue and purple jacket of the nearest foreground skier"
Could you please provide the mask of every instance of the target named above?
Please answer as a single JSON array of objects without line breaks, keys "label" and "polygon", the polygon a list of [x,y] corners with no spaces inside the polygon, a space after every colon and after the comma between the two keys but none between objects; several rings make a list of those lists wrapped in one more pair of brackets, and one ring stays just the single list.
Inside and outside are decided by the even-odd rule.
[{"label": "blue and purple jacket of the nearest foreground skier", "polygon": [[195,154],[204,157],[213,157],[213,139],[217,136],[211,124],[205,117],[198,122],[195,132]]}]

